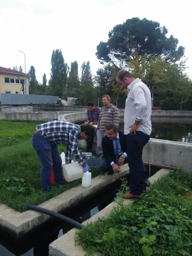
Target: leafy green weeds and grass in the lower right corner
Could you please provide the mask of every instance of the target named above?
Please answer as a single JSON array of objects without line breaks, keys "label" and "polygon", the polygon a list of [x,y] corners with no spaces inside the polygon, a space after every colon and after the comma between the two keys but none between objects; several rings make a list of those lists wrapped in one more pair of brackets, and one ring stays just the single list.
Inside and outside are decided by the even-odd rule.
[{"label": "leafy green weeds and grass in the lower right corner", "polygon": [[87,255],[192,256],[192,176],[170,171],[128,205],[122,199],[125,188],[126,180],[108,218],[76,233]]}]

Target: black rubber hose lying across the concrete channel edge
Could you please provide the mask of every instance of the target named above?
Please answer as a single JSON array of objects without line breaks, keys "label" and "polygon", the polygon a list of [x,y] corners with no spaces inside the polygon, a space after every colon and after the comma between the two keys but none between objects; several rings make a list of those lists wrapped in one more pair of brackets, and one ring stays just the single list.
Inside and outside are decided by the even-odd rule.
[{"label": "black rubber hose lying across the concrete channel edge", "polygon": [[72,224],[74,227],[78,227],[80,229],[85,227],[81,223],[79,223],[77,221],[74,221],[74,220],[72,220],[72,219],[70,219],[70,218],[68,218],[68,217],[66,217],[64,215],[61,215],[60,213],[52,212],[50,210],[47,210],[47,209],[44,209],[42,207],[38,207],[38,206],[35,206],[35,205],[31,205],[31,204],[26,204],[26,206],[31,208],[32,210],[37,211],[37,212],[42,212],[42,213],[45,213],[45,214],[50,215],[52,217],[58,218],[61,221],[67,221],[68,223]]}]

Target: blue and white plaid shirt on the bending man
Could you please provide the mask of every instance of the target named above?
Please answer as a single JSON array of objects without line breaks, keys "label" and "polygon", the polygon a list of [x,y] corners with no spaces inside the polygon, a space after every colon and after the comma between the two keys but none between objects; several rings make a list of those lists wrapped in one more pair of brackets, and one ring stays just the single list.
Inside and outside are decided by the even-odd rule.
[{"label": "blue and white plaid shirt on the bending man", "polygon": [[71,163],[71,154],[75,157],[80,165],[84,165],[81,152],[78,149],[78,139],[81,136],[81,128],[65,121],[50,121],[36,127],[41,135],[48,139],[51,143],[58,145],[67,144],[65,152],[65,163]]}]

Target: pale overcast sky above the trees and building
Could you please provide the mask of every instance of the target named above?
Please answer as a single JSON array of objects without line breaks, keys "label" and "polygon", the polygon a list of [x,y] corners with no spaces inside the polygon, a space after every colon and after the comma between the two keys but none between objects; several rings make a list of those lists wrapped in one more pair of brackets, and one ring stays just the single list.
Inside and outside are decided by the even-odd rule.
[{"label": "pale overcast sky above the trees and building", "polygon": [[192,15],[189,0],[0,0],[0,66],[30,66],[42,82],[50,78],[53,49],[61,49],[70,66],[90,61],[92,75],[102,65],[96,46],[108,40],[113,26],[132,17],[146,17],[166,26],[169,36],[185,47],[187,66],[192,74]]}]

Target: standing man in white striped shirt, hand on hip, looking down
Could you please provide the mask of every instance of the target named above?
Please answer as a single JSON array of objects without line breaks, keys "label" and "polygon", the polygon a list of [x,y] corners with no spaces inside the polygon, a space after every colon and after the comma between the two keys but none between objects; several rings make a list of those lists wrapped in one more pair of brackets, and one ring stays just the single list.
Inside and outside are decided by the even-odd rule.
[{"label": "standing man in white striped shirt, hand on hip, looking down", "polygon": [[142,152],[151,134],[151,93],[139,78],[134,79],[127,70],[120,70],[116,81],[128,90],[125,103],[124,133],[127,135],[127,154],[131,185],[124,198],[138,198],[146,190]]}]

